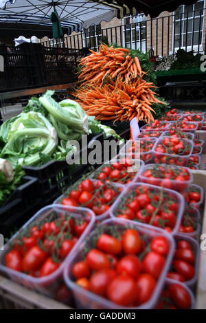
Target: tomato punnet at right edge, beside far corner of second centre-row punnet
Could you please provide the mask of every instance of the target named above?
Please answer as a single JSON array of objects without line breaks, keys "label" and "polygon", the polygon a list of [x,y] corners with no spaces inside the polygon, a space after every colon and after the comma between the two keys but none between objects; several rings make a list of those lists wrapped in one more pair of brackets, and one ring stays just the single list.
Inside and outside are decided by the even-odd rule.
[{"label": "tomato punnet at right edge, beside far corner of second centre-row punnet", "polygon": [[196,184],[190,184],[187,187],[187,191],[183,193],[183,197],[187,204],[191,205],[192,208],[199,210],[204,199],[204,190],[201,186]]}]

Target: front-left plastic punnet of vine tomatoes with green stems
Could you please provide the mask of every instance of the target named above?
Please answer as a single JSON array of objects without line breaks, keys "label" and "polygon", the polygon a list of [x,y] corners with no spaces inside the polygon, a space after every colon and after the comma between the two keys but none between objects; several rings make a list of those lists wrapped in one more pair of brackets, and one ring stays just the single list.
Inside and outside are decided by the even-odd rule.
[{"label": "front-left plastic punnet of vine tomatoes with green stems", "polygon": [[49,205],[16,232],[0,253],[0,271],[14,282],[55,298],[65,263],[90,232],[87,208]]}]

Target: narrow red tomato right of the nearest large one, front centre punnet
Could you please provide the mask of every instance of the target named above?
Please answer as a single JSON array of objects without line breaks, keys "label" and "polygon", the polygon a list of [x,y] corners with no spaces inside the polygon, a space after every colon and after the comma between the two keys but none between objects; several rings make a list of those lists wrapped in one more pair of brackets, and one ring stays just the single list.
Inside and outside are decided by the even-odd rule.
[{"label": "narrow red tomato right of the nearest large one, front centre punnet", "polygon": [[149,274],[140,274],[137,278],[137,305],[147,302],[155,290],[155,279]]}]

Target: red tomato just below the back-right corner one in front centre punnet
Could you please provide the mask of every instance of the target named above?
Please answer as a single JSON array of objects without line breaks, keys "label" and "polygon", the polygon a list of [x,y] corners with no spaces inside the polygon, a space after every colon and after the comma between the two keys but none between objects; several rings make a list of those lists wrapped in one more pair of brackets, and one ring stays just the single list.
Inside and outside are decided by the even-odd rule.
[{"label": "red tomato just below the back-right corner one in front centre punnet", "polygon": [[143,271],[157,279],[161,274],[164,264],[165,258],[163,258],[163,256],[156,252],[148,252],[142,262]]}]

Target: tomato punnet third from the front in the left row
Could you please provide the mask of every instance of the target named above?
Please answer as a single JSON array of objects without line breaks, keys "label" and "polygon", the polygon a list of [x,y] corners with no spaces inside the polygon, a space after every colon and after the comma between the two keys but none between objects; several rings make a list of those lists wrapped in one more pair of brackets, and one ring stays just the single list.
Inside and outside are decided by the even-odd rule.
[{"label": "tomato punnet third from the front in the left row", "polygon": [[[144,161],[140,159],[128,157],[112,159],[95,170],[91,174],[91,179],[121,183],[127,186],[129,183],[137,181],[142,166],[144,166]],[[135,171],[131,171],[131,167],[135,167]]]}]

